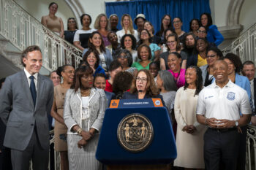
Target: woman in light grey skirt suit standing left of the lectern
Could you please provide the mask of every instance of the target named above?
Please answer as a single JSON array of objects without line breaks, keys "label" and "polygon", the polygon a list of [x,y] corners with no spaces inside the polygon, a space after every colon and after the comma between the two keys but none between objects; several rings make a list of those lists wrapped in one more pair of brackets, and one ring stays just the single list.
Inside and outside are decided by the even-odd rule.
[{"label": "woman in light grey skirt suit standing left of the lectern", "polygon": [[93,88],[94,76],[90,66],[75,71],[75,79],[67,90],[64,122],[67,125],[69,169],[102,169],[95,158],[107,107],[104,90]]}]

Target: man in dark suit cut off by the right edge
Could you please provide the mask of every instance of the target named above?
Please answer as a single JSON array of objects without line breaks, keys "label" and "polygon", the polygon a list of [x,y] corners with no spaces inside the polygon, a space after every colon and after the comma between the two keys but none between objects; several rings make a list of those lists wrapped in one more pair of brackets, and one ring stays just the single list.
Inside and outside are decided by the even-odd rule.
[{"label": "man in dark suit cut off by the right edge", "polygon": [[255,116],[255,107],[256,107],[256,78],[255,78],[255,63],[252,61],[245,61],[243,63],[242,74],[249,79],[251,84],[251,93],[252,93],[252,100],[253,100],[253,107],[254,112],[252,112],[252,125],[256,125],[256,116]]}]

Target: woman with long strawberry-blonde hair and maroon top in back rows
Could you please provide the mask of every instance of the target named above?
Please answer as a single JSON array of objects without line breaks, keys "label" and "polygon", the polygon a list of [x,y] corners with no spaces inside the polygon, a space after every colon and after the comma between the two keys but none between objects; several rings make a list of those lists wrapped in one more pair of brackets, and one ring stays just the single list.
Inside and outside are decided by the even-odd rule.
[{"label": "woman with long strawberry-blonde hair and maroon top in back rows", "polygon": [[108,41],[109,21],[107,15],[99,14],[94,22],[94,28],[102,35],[105,47],[110,45],[110,42]]}]

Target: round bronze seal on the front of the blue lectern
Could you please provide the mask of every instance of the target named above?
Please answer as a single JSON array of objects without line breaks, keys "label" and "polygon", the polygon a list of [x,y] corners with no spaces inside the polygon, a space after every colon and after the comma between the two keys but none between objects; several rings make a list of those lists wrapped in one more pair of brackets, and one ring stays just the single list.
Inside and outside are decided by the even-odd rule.
[{"label": "round bronze seal on the front of the blue lectern", "polygon": [[118,142],[129,152],[145,150],[151,144],[153,136],[152,123],[145,115],[139,113],[127,115],[118,125]]}]

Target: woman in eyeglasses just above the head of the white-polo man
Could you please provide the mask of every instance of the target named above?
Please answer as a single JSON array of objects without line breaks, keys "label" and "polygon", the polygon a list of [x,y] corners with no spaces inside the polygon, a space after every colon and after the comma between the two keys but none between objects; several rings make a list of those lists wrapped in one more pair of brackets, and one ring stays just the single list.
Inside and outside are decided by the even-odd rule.
[{"label": "woman in eyeglasses just above the head of the white-polo man", "polygon": [[203,85],[206,87],[211,85],[212,80],[214,79],[214,63],[215,61],[222,59],[222,51],[217,47],[210,47],[207,50],[205,66],[200,66],[203,77]]}]

